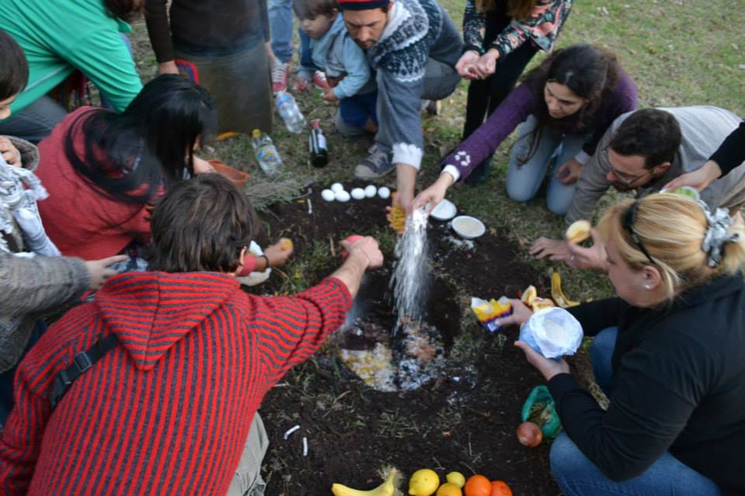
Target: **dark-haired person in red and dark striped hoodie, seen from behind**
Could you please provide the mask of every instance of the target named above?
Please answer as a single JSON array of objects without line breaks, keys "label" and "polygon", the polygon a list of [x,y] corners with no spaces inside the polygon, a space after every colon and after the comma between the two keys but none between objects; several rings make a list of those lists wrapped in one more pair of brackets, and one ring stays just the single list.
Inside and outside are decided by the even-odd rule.
[{"label": "dark-haired person in red and dark striped hoodie, seen from behind", "polygon": [[[235,274],[254,219],[218,175],[165,195],[153,210],[153,271],[110,279],[20,364],[0,494],[242,494],[236,468],[259,451],[243,474],[255,485],[261,399],[343,323],[364,271],[383,259],[367,237],[305,292],[245,294]],[[60,373],[75,367],[79,377],[66,381]]]}]

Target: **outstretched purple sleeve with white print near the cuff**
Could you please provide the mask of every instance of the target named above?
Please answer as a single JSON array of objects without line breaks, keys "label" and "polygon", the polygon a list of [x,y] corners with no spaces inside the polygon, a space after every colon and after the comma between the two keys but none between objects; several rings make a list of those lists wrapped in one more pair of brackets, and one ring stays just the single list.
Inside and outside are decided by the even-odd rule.
[{"label": "outstretched purple sleeve with white print near the cuff", "polygon": [[541,95],[530,87],[530,83],[522,83],[507,95],[481,127],[447,156],[442,166],[456,167],[460,178],[465,178],[474,167],[491,155],[528,115],[536,111],[540,101]]}]

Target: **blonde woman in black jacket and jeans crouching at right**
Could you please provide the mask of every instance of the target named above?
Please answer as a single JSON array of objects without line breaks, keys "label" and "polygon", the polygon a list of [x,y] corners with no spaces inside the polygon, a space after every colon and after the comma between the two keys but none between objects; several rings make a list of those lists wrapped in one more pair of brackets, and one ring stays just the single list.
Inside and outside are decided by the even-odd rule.
[{"label": "blonde woman in black jacket and jeans crouching at right", "polygon": [[[548,381],[565,433],[551,471],[565,495],[745,490],[745,260],[726,210],[673,194],[615,205],[600,221],[618,297],[571,312],[592,345],[608,410],[565,361],[516,343]],[[530,310],[513,301],[522,323]]]}]

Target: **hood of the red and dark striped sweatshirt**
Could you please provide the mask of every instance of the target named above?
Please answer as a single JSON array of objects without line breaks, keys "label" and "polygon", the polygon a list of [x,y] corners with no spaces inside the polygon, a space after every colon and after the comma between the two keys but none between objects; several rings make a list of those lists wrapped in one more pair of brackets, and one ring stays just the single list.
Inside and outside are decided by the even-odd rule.
[{"label": "hood of the red and dark striped sweatshirt", "polygon": [[101,318],[139,370],[151,370],[174,344],[234,298],[238,280],[218,272],[127,272],[95,296]]}]

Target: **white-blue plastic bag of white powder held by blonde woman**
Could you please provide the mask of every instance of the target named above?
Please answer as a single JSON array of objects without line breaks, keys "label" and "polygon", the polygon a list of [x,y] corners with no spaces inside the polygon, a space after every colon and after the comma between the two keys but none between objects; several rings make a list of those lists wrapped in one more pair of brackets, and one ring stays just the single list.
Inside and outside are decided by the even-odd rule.
[{"label": "white-blue plastic bag of white powder held by blonde woman", "polygon": [[520,341],[546,358],[574,355],[582,344],[582,338],[580,321],[559,307],[535,312],[520,329]]}]

